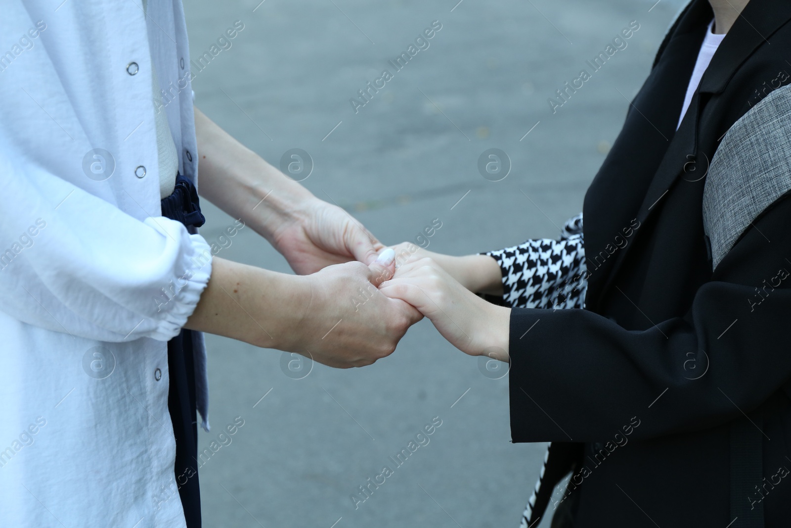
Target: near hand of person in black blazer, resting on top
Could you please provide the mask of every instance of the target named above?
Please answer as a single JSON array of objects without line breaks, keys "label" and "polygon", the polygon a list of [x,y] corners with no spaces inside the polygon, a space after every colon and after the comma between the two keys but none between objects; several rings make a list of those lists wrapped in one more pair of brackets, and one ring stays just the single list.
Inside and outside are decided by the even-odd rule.
[{"label": "near hand of person in black blazer, resting on top", "polygon": [[509,360],[511,310],[471,293],[433,259],[403,264],[380,291],[417,308],[460,351]]}]

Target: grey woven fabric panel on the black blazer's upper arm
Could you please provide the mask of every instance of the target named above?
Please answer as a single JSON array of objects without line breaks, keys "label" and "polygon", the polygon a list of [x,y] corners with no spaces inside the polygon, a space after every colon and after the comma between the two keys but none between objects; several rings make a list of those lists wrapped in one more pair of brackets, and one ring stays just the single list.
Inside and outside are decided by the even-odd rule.
[{"label": "grey woven fabric panel on the black blazer's upper arm", "polygon": [[774,90],[736,121],[711,160],[703,228],[713,268],[751,222],[791,189],[791,85]]}]

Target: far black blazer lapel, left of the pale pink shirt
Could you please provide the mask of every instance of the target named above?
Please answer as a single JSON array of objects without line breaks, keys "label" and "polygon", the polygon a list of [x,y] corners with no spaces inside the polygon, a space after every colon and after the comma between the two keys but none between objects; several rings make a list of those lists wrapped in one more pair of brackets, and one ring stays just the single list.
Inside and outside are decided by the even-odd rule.
[{"label": "far black blazer lapel, left of the pale pink shirt", "polygon": [[[680,156],[686,162],[687,154],[694,155],[695,127],[689,117],[698,112],[697,97],[691,101],[687,119],[678,131],[676,124],[711,17],[706,0],[694,2],[687,10],[645,85],[630,102],[623,130],[585,195],[585,255],[589,272],[585,302],[589,310],[596,311],[604,300],[615,272],[641,232],[636,226],[642,225],[646,213],[657,209],[653,204],[667,189],[660,188],[662,183],[657,180],[671,180],[677,170],[683,170],[683,164],[676,167],[672,161]],[[648,201],[646,196],[653,199]],[[622,249],[613,249],[615,235],[629,227],[634,227],[634,234],[626,234],[631,236],[629,243]]]}]

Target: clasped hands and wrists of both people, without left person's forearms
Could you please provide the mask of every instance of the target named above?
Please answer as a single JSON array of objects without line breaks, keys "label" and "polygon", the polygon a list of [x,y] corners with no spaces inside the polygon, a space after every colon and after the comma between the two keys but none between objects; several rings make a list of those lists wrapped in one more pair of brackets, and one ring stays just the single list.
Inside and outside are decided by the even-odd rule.
[{"label": "clasped hands and wrists of both people, without left person's forearms", "polygon": [[313,272],[303,277],[311,302],[287,350],[360,367],[391,354],[425,316],[461,351],[508,361],[510,310],[474,293],[502,291],[490,256],[441,255],[409,242],[385,249],[346,211],[319,200],[274,243],[295,271]]}]

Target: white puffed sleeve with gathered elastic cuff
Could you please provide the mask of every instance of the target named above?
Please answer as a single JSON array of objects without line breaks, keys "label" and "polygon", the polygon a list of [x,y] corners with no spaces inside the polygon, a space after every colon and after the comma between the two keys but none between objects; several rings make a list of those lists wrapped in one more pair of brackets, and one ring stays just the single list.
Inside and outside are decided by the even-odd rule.
[{"label": "white puffed sleeve with gathered elastic cuff", "polygon": [[[101,341],[176,336],[211,273],[206,241],[0,156],[0,310]],[[64,199],[66,197],[66,199]]]}]

